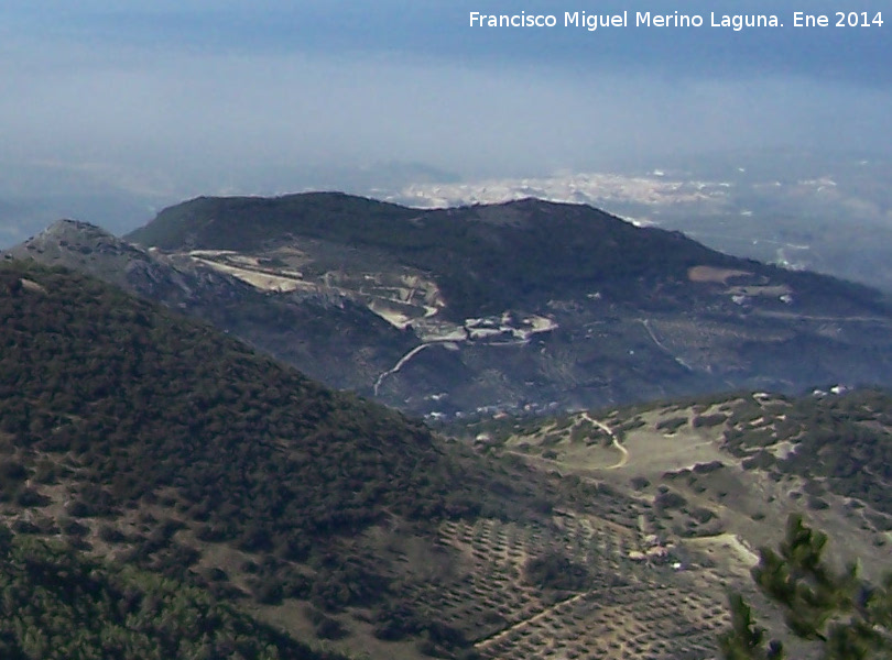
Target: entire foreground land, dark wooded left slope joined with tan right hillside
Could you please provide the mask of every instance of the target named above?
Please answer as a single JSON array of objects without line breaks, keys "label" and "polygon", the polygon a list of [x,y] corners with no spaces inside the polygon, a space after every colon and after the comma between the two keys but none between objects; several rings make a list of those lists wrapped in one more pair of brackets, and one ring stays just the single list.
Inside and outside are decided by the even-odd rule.
[{"label": "entire foreground land, dark wooded left slope joined with tan right hillside", "polygon": [[25,657],[253,636],[280,657],[705,659],[788,509],[885,561],[882,392],[444,436],[67,270],[6,261],[0,315],[0,644]]}]

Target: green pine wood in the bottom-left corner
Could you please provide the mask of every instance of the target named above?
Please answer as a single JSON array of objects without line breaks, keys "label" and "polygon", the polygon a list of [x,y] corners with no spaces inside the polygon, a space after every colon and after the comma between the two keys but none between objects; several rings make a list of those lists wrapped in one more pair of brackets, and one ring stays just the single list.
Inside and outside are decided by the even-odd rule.
[{"label": "green pine wood in the bottom-left corner", "polygon": [[206,592],[0,528],[0,658],[338,660]]}]

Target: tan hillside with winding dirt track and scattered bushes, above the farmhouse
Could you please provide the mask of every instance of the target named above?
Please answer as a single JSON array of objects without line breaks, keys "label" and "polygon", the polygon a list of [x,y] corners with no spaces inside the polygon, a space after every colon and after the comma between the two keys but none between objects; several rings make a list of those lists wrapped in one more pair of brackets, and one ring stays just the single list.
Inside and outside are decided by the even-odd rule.
[{"label": "tan hillside with winding dirt track and scattered bushes, above the farmhouse", "polygon": [[[791,513],[839,540],[838,562],[888,570],[892,395],[840,388],[787,397],[707,395],[547,419],[449,427],[481,453],[602,480],[653,503],[642,526],[684,546],[773,546]],[[742,546],[741,546],[742,543]]]}]

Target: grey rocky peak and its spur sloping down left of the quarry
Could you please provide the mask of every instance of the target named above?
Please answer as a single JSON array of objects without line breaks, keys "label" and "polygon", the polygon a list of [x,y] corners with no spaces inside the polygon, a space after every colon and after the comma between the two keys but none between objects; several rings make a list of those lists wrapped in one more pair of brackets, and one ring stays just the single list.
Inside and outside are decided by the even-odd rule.
[{"label": "grey rocky peak and its spur sloping down left of the quarry", "polygon": [[188,255],[142,250],[87,222],[59,220],[6,254],[87,273],[162,302],[340,389],[367,387],[413,345],[350,299],[325,292],[270,295],[266,283],[244,282]]}]

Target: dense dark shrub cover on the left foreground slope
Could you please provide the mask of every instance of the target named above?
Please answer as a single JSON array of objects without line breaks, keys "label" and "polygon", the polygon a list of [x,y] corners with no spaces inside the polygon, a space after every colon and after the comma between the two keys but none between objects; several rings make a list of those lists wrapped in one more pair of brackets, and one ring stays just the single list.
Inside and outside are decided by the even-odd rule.
[{"label": "dense dark shrub cover on the left foreground slope", "polygon": [[[474,474],[422,425],[99,282],[8,265],[0,318],[0,438],[72,458],[91,482],[78,517],[172,487],[208,536],[300,553],[384,508],[429,520],[479,507]],[[0,466],[11,483],[35,469]]]}]

